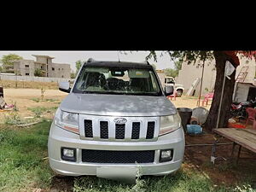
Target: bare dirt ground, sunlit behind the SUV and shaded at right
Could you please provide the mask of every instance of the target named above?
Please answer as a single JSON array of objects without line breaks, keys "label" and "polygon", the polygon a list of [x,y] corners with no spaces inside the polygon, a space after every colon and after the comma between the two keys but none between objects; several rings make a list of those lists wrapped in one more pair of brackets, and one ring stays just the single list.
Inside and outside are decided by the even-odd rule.
[{"label": "bare dirt ground, sunlit behind the SUV and shaded at right", "polygon": [[[57,108],[61,100],[67,96],[67,93],[60,90],[45,90],[44,101],[36,102],[35,98],[41,98],[40,89],[4,89],[4,99],[8,104],[16,103],[19,109],[17,113],[22,118],[33,116],[34,113],[28,108]],[[177,97],[176,101],[172,101],[176,108],[196,108],[196,97],[182,96]],[[207,106],[210,108],[210,105]],[[1,112],[0,118],[4,118],[4,114],[10,112]],[[54,115],[54,111],[51,113],[44,113],[45,117],[51,118]],[[186,144],[212,144],[214,137],[212,133],[205,131],[202,136],[192,137],[186,136]],[[219,143],[230,143],[230,141],[221,139]],[[230,163],[230,153],[232,144],[219,145],[217,147],[217,156],[224,157],[228,160],[217,160],[216,165],[212,166],[210,163],[210,157],[212,152],[212,146],[200,146],[200,147],[186,147],[185,159],[183,166],[198,169],[206,177],[210,177],[216,184],[222,183],[226,185],[236,184],[243,177],[252,177],[253,183],[256,183],[256,154],[251,153],[245,148],[241,149],[241,158],[238,165]],[[238,147],[236,147],[235,155],[237,154]]]}]

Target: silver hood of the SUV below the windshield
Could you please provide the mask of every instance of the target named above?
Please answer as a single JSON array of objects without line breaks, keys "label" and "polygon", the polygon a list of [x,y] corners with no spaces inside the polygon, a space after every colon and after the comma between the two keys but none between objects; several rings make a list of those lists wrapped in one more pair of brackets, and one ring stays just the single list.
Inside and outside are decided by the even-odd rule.
[{"label": "silver hood of the SUV below the windshield", "polygon": [[110,116],[161,116],[177,113],[166,96],[127,96],[70,93],[61,110],[72,113]]}]

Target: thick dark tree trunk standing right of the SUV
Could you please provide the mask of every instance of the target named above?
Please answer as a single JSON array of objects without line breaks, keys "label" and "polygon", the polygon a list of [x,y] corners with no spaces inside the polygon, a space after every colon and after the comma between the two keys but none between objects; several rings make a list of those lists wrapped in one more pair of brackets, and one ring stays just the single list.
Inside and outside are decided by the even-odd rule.
[{"label": "thick dark tree trunk standing right of the SUV", "polygon": [[[215,67],[216,67],[216,80],[214,85],[214,96],[212,99],[212,106],[210,108],[210,112],[207,117],[207,121],[205,127],[212,131],[212,129],[216,128],[217,119],[218,119],[218,108],[220,104],[221,98],[221,90],[223,86],[224,80],[224,71],[225,71],[225,62],[228,60],[232,63],[234,67],[234,62],[230,59],[229,55],[225,55],[223,51],[213,51],[215,57]],[[225,80],[224,85],[224,95],[221,106],[221,113],[219,117],[218,127],[226,127],[228,124],[228,119],[230,117],[230,106],[232,103],[232,96],[235,86],[235,76],[236,70],[230,75],[231,79]]]}]

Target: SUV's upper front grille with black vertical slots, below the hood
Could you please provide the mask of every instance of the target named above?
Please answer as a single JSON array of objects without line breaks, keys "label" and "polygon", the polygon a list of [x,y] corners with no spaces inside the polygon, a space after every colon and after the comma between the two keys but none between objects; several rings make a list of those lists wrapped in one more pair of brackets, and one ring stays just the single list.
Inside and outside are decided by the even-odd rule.
[{"label": "SUV's upper front grille with black vertical slots, below the hood", "polygon": [[125,117],[126,123],[116,123],[116,116],[79,115],[84,131],[82,139],[95,141],[143,142],[156,141],[159,117]]}]

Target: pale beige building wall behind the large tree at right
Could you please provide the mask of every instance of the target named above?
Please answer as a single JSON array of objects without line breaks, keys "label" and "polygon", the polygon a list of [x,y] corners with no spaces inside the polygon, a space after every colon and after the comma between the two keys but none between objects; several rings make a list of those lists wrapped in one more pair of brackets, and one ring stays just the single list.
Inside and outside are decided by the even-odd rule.
[{"label": "pale beige building wall behind the large tree at right", "polygon": [[[241,55],[238,56],[240,65],[236,67],[236,78],[241,72],[242,67],[247,67],[246,78],[241,83],[236,83],[233,101],[234,102],[245,102],[250,98],[255,98],[256,94],[256,61],[254,59],[250,60]],[[199,83],[195,87],[194,96],[199,95],[200,85],[201,85],[201,73],[202,73],[202,61],[197,61],[195,64],[187,64],[183,62],[182,69],[178,72],[177,83],[183,84],[184,93],[186,94],[191,85],[194,83],[195,79],[200,79]],[[215,60],[206,61],[203,75],[202,83],[202,95],[209,91],[212,91],[215,84],[216,69]]]}]

